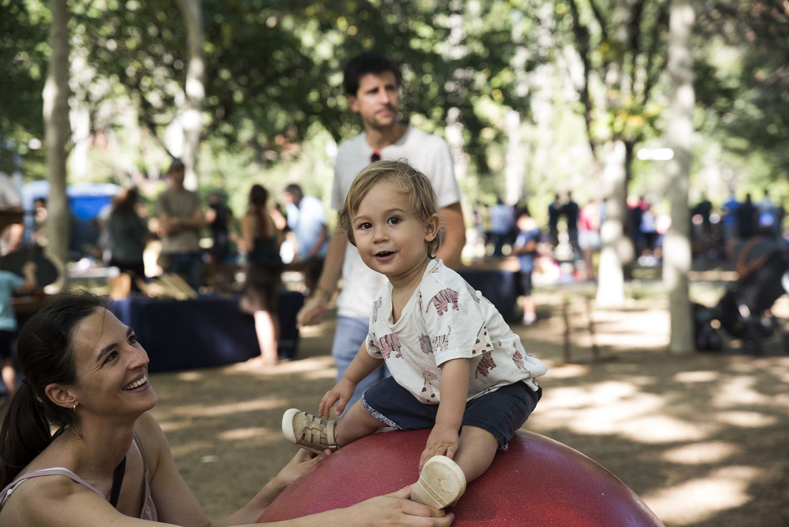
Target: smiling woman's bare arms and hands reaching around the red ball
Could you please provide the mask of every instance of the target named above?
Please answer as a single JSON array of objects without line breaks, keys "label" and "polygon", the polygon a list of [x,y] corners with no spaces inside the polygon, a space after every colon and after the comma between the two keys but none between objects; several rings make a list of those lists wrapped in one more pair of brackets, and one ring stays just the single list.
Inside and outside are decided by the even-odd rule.
[{"label": "smiling woman's bare arms and hands reaching around the red ball", "polygon": [[[65,477],[34,478],[20,485],[0,510],[2,525],[18,527],[148,527],[148,525],[182,525],[211,527],[213,525],[249,525],[273,499],[297,477],[320,462],[324,456],[311,460],[305,450],[280,471],[277,477],[236,514],[209,523],[189,486],[175,467],[170,446],[153,417],[144,414],[137,421],[137,432],[142,439],[151,473],[151,494],[159,522],[125,516],[115,510],[107,499],[81,484]],[[372,525],[401,525],[402,527],[449,527],[453,517],[443,511],[415,503],[408,499],[410,488],[390,495],[377,496],[346,509],[328,510],[305,518],[268,523],[271,527],[366,527]],[[244,523],[241,523],[244,522]]]}]

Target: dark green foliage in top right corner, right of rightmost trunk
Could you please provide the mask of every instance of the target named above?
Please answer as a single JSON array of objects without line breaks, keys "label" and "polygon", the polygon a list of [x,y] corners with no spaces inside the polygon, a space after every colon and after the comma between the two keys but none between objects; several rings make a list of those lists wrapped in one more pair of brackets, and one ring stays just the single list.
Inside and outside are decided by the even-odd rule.
[{"label": "dark green foliage in top right corner, right of rightmost trunk", "polygon": [[[756,153],[772,170],[762,182],[789,178],[789,5],[781,0],[721,2],[700,9],[697,100],[709,110],[705,130],[743,158]],[[754,168],[761,164],[753,159]]]}]

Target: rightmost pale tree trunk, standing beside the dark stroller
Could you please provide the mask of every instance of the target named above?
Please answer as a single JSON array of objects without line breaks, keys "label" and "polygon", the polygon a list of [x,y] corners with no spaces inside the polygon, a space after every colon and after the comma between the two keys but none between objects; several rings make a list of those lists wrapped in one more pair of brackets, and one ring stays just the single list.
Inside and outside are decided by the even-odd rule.
[{"label": "rightmost pale tree trunk, standing beside the dark stroller", "polygon": [[687,272],[690,271],[690,211],[688,181],[690,145],[693,140],[694,90],[690,32],[694,12],[690,0],[675,0],[669,23],[668,72],[671,74],[671,114],[669,144],[674,159],[668,163],[668,195],[671,198],[671,228],[663,250],[663,279],[671,309],[670,353],[691,353],[694,345],[694,318],[690,308]]}]

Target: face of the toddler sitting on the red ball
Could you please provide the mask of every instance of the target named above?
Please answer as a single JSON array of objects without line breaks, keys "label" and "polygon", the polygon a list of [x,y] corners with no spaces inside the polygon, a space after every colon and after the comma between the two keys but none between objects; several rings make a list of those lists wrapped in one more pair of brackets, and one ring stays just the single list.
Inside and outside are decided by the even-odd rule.
[{"label": "face of the toddler sitting on the red ball", "polygon": [[429,259],[428,241],[438,233],[439,217],[434,215],[427,222],[417,218],[408,197],[383,181],[361,200],[351,228],[365,265],[397,279]]}]

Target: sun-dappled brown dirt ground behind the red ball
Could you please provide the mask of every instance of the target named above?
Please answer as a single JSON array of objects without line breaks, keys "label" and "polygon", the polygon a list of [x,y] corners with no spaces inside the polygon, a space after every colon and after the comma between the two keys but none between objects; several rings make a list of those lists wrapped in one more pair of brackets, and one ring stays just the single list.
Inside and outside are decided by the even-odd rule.
[{"label": "sun-dappled brown dirt ground behind the red ball", "polygon": [[[697,287],[701,297],[720,292]],[[665,352],[662,295],[596,308],[593,360],[578,290],[537,294],[538,323],[513,326],[549,366],[526,428],[588,455],[644,499],[667,527],[789,525],[789,356],[774,340],[750,357]],[[561,299],[570,294],[572,356],[563,362]],[[638,296],[638,295],[637,295]],[[789,316],[789,301],[776,305]],[[316,409],[335,379],[335,324],[302,331],[294,361],[270,372],[234,364],[159,373],[155,416],[211,518],[237,510],[290,458],[282,412]]]}]

